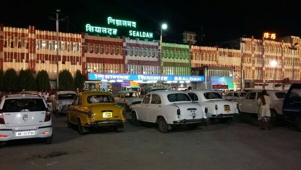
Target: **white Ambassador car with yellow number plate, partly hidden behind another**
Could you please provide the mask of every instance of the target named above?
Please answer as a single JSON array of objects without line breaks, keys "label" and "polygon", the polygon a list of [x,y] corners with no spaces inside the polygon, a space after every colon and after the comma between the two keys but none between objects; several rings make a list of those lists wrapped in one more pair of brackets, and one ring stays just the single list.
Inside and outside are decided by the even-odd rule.
[{"label": "white Ambassador car with yellow number plate, partly hidden behind another", "polygon": [[220,121],[230,121],[233,116],[238,116],[236,102],[223,100],[220,93],[213,90],[190,90],[185,91],[192,101],[208,108],[207,117],[212,121],[218,118]]}]

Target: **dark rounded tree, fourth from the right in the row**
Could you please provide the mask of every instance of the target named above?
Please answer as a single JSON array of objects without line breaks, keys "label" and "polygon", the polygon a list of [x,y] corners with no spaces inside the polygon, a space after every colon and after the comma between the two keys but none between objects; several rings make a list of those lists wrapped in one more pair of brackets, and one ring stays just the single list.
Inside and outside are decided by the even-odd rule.
[{"label": "dark rounded tree, fourth from the right in the row", "polygon": [[24,70],[23,68],[19,73],[19,90],[34,90],[36,89],[35,77],[30,69]]}]

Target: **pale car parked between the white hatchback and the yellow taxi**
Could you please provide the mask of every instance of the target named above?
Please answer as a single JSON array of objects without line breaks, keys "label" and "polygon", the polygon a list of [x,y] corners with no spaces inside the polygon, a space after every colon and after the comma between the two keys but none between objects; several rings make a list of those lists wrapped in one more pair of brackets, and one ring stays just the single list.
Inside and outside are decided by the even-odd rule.
[{"label": "pale car parked between the white hatchback and the yellow taxi", "polygon": [[68,107],[73,103],[76,93],[72,91],[57,92],[52,101],[53,113],[56,117],[67,114]]}]

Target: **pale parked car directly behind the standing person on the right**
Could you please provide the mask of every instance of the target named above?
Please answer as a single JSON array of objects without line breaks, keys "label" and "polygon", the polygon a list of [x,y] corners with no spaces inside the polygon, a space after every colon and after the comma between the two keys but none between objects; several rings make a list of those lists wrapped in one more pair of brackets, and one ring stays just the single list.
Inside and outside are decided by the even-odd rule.
[{"label": "pale parked car directly behind the standing person on the right", "polygon": [[[283,116],[282,105],[286,94],[278,90],[266,90],[266,92],[271,99],[271,119],[272,121],[276,121]],[[258,114],[259,106],[257,105],[257,99],[261,94],[262,90],[251,91],[242,100],[236,100],[240,112]]]}]

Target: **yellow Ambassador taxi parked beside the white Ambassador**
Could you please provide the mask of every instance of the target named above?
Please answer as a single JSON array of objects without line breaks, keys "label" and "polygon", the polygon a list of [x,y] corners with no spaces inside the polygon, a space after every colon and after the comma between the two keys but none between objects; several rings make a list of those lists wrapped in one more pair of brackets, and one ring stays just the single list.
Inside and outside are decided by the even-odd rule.
[{"label": "yellow Ambassador taxi parked beside the white Ambassador", "polygon": [[82,92],[68,108],[68,127],[77,125],[80,135],[89,127],[112,126],[115,131],[126,123],[123,107],[118,106],[109,92]]}]

